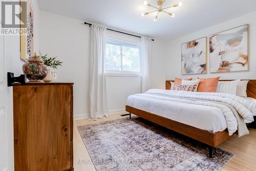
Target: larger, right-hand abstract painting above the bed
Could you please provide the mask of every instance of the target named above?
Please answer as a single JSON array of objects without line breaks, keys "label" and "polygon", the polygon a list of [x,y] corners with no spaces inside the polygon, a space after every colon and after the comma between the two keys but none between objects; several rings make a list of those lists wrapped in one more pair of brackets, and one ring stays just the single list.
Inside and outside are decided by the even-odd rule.
[{"label": "larger, right-hand abstract painting above the bed", "polygon": [[249,25],[209,36],[210,72],[249,70]]}]

